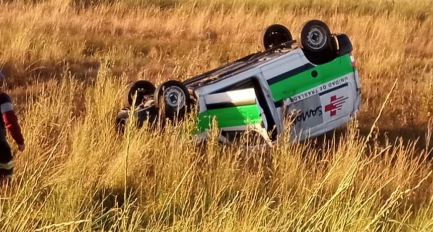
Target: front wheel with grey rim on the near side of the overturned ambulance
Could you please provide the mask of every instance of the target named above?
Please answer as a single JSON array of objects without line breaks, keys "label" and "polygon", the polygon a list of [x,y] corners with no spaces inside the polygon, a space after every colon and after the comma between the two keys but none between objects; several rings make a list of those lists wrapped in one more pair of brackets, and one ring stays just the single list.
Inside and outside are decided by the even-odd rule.
[{"label": "front wheel with grey rim on the near side of the overturned ambulance", "polygon": [[163,109],[170,119],[183,117],[187,112],[191,99],[188,89],[181,82],[167,81],[155,90],[155,106]]}]

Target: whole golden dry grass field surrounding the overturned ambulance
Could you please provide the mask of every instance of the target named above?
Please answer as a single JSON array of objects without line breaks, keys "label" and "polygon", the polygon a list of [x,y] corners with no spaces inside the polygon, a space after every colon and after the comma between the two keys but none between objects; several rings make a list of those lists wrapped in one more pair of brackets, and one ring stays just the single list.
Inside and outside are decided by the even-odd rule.
[{"label": "whole golden dry grass field surrounding the overturned ambulance", "polygon": [[[2,1],[27,148],[8,137],[0,231],[432,231],[433,2],[280,2]],[[335,136],[265,152],[195,144],[192,120],[114,133],[128,81],[187,79],[313,18],[350,37],[363,88]]]}]

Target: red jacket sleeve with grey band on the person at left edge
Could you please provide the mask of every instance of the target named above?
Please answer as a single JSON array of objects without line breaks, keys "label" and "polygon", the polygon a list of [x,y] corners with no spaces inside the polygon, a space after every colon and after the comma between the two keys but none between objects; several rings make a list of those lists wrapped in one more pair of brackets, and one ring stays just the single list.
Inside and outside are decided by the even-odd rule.
[{"label": "red jacket sleeve with grey band on the person at left edge", "polygon": [[5,123],[5,129],[11,133],[16,143],[24,144],[24,137],[21,133],[17,115],[12,108],[12,102],[9,96],[2,92],[0,92],[0,112],[2,113],[3,122]]}]

